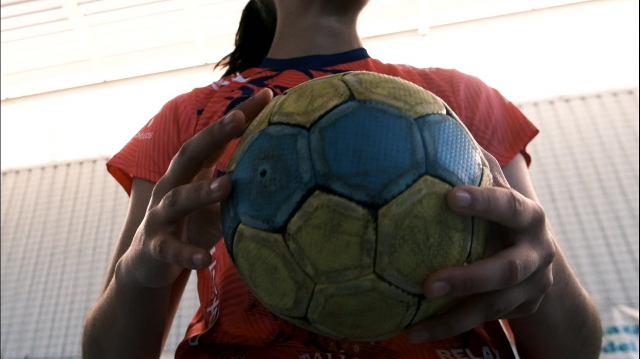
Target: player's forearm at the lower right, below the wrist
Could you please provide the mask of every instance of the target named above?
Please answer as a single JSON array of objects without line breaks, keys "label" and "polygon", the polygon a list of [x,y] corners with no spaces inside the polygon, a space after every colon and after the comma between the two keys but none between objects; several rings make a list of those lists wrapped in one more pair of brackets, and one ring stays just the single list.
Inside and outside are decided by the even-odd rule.
[{"label": "player's forearm at the lower right, below the wrist", "polygon": [[532,315],[509,320],[522,359],[598,358],[600,317],[561,251],[552,264],[554,284]]}]

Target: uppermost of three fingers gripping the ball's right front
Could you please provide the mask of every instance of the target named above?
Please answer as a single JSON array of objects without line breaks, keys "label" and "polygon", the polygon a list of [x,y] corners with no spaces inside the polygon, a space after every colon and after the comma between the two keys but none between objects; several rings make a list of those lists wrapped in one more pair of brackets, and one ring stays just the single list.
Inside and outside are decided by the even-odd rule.
[{"label": "uppermost of three fingers gripping the ball's right front", "polygon": [[458,186],[449,191],[447,202],[455,212],[488,219],[507,228],[544,228],[542,207],[513,189]]}]

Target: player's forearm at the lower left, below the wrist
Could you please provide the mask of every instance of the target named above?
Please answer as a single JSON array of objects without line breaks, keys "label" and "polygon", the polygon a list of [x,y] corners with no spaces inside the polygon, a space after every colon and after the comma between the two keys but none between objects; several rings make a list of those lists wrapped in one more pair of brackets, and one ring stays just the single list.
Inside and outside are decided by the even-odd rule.
[{"label": "player's forearm at the lower left, below the wrist", "polygon": [[84,358],[152,358],[160,355],[172,287],[135,285],[122,261],[86,319]]}]

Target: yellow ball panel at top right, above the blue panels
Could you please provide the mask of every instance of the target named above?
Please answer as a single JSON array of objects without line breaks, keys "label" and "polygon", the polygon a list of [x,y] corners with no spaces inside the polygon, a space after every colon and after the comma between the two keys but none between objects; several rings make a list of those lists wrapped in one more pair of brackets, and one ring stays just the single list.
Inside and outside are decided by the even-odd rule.
[{"label": "yellow ball panel at top right, above the blue panels", "polygon": [[[390,81],[392,79],[392,81]],[[351,72],[342,77],[358,100],[371,100],[399,109],[411,118],[445,113],[442,100],[416,84],[372,72]]]}]

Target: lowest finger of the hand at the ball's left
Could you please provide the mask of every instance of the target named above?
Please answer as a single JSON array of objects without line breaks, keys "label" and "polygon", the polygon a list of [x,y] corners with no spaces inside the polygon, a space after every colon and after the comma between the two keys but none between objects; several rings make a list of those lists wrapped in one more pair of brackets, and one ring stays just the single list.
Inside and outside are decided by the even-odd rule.
[{"label": "lowest finger of the hand at the ball's left", "polygon": [[188,269],[202,269],[211,262],[208,251],[175,237],[161,236],[151,241],[149,252],[160,262]]}]

